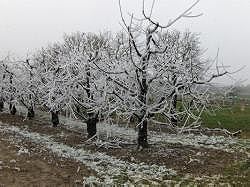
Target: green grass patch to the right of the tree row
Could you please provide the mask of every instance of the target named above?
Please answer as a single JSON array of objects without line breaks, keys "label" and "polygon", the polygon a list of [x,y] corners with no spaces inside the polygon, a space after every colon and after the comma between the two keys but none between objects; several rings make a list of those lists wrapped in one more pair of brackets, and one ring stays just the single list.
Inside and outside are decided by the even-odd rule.
[{"label": "green grass patch to the right of the tree row", "polygon": [[243,130],[250,132],[250,105],[236,103],[232,106],[221,107],[214,114],[204,113],[204,126],[210,128],[226,128],[228,130]]}]

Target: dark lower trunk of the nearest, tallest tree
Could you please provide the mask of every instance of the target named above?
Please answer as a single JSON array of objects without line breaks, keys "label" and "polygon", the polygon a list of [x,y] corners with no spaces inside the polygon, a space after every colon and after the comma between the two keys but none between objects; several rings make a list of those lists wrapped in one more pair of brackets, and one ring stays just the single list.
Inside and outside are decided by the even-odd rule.
[{"label": "dark lower trunk of the nearest, tallest tree", "polygon": [[138,148],[148,148],[148,121],[143,120],[142,124],[138,127]]}]

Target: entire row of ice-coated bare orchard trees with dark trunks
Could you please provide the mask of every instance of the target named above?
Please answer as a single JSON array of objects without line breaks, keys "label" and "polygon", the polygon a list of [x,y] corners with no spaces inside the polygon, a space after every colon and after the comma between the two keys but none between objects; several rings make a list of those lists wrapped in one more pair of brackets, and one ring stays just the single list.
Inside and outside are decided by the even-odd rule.
[{"label": "entire row of ice-coated bare orchard trees with dark trunks", "polygon": [[170,30],[182,18],[199,16],[191,13],[198,2],[162,25],[153,19],[153,5],[146,13],[144,1],[142,18],[129,15],[127,23],[119,1],[125,32],[115,37],[77,32],[39,50],[16,70],[1,63],[0,109],[1,101],[15,109],[17,98],[32,117],[36,103],[51,113],[53,126],[59,112],[68,111],[87,123],[89,138],[100,117],[136,119],[139,148],[148,147],[150,123],[177,132],[197,127],[213,80],[228,73],[204,58],[198,35]]}]

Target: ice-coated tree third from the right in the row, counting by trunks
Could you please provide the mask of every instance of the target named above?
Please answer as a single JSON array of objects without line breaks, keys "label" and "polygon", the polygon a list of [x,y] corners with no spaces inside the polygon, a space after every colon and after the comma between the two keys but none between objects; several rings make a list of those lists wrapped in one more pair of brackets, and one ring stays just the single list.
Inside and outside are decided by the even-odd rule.
[{"label": "ice-coated tree third from the right in the row, counting by trunks", "polygon": [[62,57],[62,47],[54,44],[39,50],[32,58],[35,67],[33,81],[38,88],[38,102],[51,113],[53,126],[59,124],[59,111],[65,107],[66,96],[62,92],[65,79],[61,68]]}]

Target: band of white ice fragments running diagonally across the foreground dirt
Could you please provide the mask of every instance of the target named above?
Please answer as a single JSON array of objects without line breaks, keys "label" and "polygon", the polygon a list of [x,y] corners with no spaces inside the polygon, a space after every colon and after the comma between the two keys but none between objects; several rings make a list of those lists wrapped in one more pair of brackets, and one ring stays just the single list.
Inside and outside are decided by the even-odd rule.
[{"label": "band of white ice fragments running diagonally across the foreground dirt", "polygon": [[[0,131],[11,133],[16,139],[27,138],[29,141],[52,151],[60,157],[75,159],[85,164],[97,172],[97,182],[100,181],[105,184],[113,184],[119,182],[120,178],[127,178],[127,182],[133,181],[133,183],[136,180],[144,178],[154,181],[161,180],[164,176],[173,176],[176,174],[174,170],[167,169],[165,166],[146,165],[144,163],[135,164],[121,161],[104,153],[91,153],[84,149],[73,148],[55,142],[49,136],[21,130],[18,127],[7,126],[0,123],[0,128]],[[24,152],[24,150],[22,152]],[[27,152],[27,150],[25,150],[25,152]]]}]

